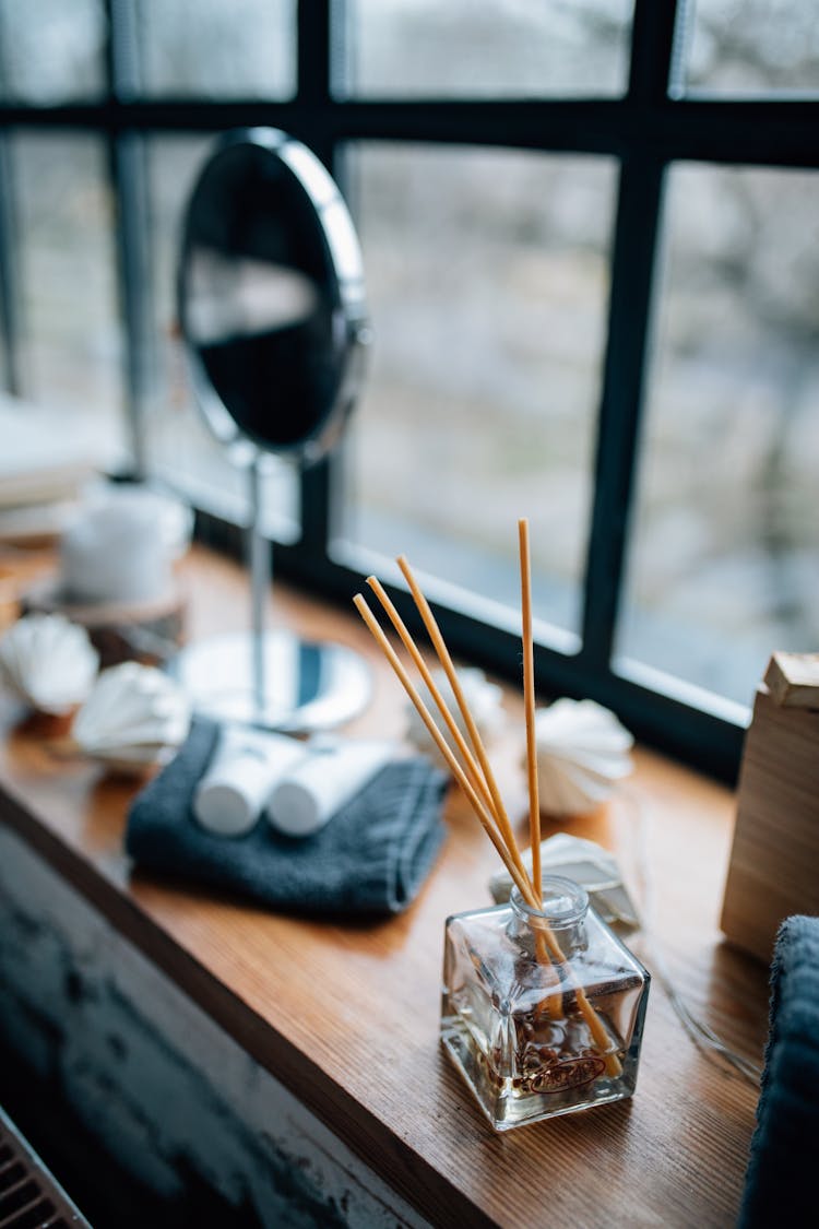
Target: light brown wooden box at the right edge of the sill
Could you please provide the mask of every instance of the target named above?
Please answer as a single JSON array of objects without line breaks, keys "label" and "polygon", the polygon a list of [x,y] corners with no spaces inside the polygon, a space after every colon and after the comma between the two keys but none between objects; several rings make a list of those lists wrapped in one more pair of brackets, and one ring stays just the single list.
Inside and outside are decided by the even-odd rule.
[{"label": "light brown wooden box at the right edge of the sill", "polygon": [[743,752],[722,929],[769,962],[783,918],[819,913],[819,656],[775,654]]}]

